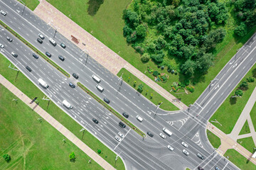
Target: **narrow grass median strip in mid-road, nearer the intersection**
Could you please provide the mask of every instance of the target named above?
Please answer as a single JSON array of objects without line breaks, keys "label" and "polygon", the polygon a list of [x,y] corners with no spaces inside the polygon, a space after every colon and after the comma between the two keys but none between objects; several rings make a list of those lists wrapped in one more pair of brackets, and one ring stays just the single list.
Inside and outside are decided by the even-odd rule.
[{"label": "narrow grass median strip in mid-road, nearer the intersection", "polygon": [[92,96],[92,98],[95,98],[96,101],[98,101],[100,104],[102,104],[102,106],[104,106],[105,108],[107,108],[111,113],[113,113],[115,116],[117,116],[117,118],[119,118],[120,120],[122,120],[125,124],[127,124],[130,128],[132,128],[135,132],[139,133],[139,135],[141,135],[142,137],[145,137],[146,135],[144,134],[144,132],[142,132],[141,130],[139,130],[138,128],[136,128],[136,126],[134,126],[132,123],[130,123],[126,118],[124,118],[122,115],[120,115],[119,113],[117,113],[117,111],[114,111],[113,108],[111,108],[109,105],[105,104],[104,101],[102,101],[102,99],[98,98],[95,94],[93,94],[89,89],[87,89],[85,86],[83,86],[82,84],[80,84],[80,82],[78,82],[78,86],[80,86],[80,88],[85,91],[87,94],[89,94],[90,96]]}]

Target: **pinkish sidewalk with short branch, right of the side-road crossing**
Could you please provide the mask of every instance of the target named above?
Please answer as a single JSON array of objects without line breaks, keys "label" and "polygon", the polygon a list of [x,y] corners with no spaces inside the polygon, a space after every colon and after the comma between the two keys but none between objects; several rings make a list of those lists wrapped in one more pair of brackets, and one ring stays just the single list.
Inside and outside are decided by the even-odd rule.
[{"label": "pinkish sidewalk with short branch, right of the side-road crossing", "polygon": [[218,136],[221,140],[221,145],[218,148],[218,151],[220,154],[224,155],[225,152],[227,152],[228,149],[235,149],[237,152],[242,154],[246,159],[250,159],[250,162],[256,165],[256,159],[252,158],[252,153],[247,151],[244,147],[238,144],[235,140],[233,140],[231,137],[226,135],[224,132],[216,128],[211,123],[207,124],[207,129],[210,130],[210,132],[213,132],[216,136]]}]

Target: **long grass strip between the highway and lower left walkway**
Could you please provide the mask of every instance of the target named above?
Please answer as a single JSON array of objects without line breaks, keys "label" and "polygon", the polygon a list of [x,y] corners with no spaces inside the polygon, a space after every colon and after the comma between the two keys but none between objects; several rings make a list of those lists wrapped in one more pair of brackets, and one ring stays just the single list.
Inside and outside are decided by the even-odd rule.
[{"label": "long grass strip between the highway and lower left walkway", "polygon": [[[42,98],[45,96],[30,80],[28,80],[21,72],[18,74],[18,78],[16,79],[17,72],[13,69],[9,69],[10,62],[3,55],[0,55],[0,74],[2,74],[6,79],[11,81],[18,89],[23,91],[29,98],[38,97],[39,106],[47,111],[50,115],[53,116],[58,122],[68,128],[74,135],[76,135],[80,140],[82,139],[82,133],[80,130],[82,127],[75,122],[72,118],[70,118],[66,113],[64,113],[58,106],[55,106],[53,102],[50,102],[50,106],[47,109],[47,101],[43,101]],[[102,144],[99,140],[97,140],[90,132],[85,131],[85,135],[83,137],[83,142],[88,145],[92,150],[97,152],[97,149],[102,150],[102,154],[100,156],[104,158],[107,162],[114,166],[114,159],[116,154],[112,152],[109,148]],[[124,164],[122,159],[117,159],[117,164],[115,166],[116,169],[124,169]]]}]

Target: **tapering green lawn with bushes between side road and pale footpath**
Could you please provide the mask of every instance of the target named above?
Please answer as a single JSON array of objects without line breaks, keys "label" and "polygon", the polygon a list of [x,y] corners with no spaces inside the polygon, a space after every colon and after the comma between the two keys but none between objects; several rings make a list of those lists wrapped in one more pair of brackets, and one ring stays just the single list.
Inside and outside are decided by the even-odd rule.
[{"label": "tapering green lawn with bushes between side road and pale footpath", "polygon": [[[250,71],[245,75],[245,77],[240,81],[246,81],[247,77],[252,77],[252,70],[256,69],[256,65],[250,69]],[[238,86],[240,85],[238,84]],[[256,81],[253,83],[248,83],[248,89],[247,91],[243,91],[242,97],[236,97],[231,98],[235,94],[236,89],[238,89],[238,86],[235,87],[235,89],[231,92],[231,94],[228,96],[228,98],[225,99],[223,104],[218,108],[218,110],[214,113],[214,115],[210,118],[210,120],[218,120],[222,126],[220,126],[218,123],[215,123],[214,125],[225,132],[225,134],[229,134],[234,126],[235,123],[238,121],[238,118],[240,114],[242,113],[243,108],[245,108],[245,105],[250,98],[250,95],[252,94],[252,91],[255,89]]]}]

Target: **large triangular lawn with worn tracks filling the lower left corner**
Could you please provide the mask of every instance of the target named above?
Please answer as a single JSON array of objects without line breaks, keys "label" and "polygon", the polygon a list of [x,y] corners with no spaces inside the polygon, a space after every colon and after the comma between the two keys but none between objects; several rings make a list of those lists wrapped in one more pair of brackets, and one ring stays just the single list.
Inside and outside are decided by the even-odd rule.
[{"label": "large triangular lawn with worn tracks filling the lower left corner", "polygon": [[[0,84],[0,169],[102,169],[93,160],[88,164],[87,154],[46,121],[40,123],[37,113],[13,98]],[[77,157],[75,163],[69,160],[71,152]],[[11,162],[4,161],[4,154],[11,156]]]}]

